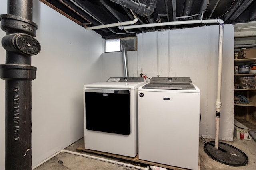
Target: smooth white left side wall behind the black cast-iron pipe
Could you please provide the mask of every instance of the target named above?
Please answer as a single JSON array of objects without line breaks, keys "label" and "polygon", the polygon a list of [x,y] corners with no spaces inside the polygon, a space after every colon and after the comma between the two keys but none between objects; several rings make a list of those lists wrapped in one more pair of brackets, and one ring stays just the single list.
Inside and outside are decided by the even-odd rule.
[{"label": "smooth white left side wall behind the black cast-iron pipe", "polygon": [[[33,21],[42,49],[32,56],[37,67],[32,80],[32,166],[84,136],[84,84],[102,81],[104,40],[94,31],[34,0]],[[0,14],[7,0],[0,0]],[[0,30],[0,39],[6,33]],[[0,64],[5,50],[0,46]],[[0,80],[0,169],[5,159],[4,80]]]}]

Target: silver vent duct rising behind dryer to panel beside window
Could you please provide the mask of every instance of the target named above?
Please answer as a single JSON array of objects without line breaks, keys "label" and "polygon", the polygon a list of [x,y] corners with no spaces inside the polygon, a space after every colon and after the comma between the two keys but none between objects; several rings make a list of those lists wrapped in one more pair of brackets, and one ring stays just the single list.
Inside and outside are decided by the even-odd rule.
[{"label": "silver vent duct rising behind dryer to panel beside window", "polygon": [[127,51],[137,50],[137,37],[121,38],[124,77],[129,77]]}]

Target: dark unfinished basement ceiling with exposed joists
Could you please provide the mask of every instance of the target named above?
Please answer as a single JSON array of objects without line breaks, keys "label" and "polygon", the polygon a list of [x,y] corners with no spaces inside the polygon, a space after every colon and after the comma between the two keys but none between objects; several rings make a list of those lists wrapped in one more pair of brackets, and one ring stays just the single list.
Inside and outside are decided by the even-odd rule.
[{"label": "dark unfinished basement ceiling with exposed joists", "polygon": [[[184,20],[207,20],[220,18],[225,24],[256,21],[256,0],[156,0],[156,7],[151,15],[139,15],[112,2],[113,0],[40,0],[54,10],[73,20],[85,29],[87,27],[106,25],[134,20],[134,25]],[[117,0],[116,0],[117,1]],[[134,1],[148,5],[154,0],[119,0]],[[103,38],[134,36],[122,34],[127,32],[142,33],[160,29],[180,29],[213,24],[171,25],[121,30],[118,27],[94,29]]]}]

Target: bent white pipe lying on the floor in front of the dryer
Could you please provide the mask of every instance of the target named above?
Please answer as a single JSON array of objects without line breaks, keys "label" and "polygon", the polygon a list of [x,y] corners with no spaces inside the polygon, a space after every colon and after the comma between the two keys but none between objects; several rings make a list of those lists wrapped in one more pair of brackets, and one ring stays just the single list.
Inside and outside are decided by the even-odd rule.
[{"label": "bent white pipe lying on the floor in front of the dryer", "polygon": [[136,165],[132,165],[132,164],[126,164],[126,163],[123,163],[123,162],[118,162],[118,161],[109,160],[109,159],[105,159],[105,158],[99,158],[99,157],[96,157],[96,156],[82,154],[82,153],[79,153],[79,152],[72,152],[72,151],[65,150],[65,149],[60,150],[59,152],[57,152],[56,154],[50,156],[49,158],[47,158],[46,160],[44,160],[40,164],[34,166],[32,168],[32,170],[34,170],[38,166],[44,164],[45,162],[47,162],[48,160],[50,160],[51,158],[53,158],[57,154],[60,154],[61,152],[70,153],[70,154],[74,154],[74,155],[78,155],[78,156],[83,156],[83,157],[86,157],[86,158],[91,158],[91,159],[100,160],[100,161],[104,161],[104,162],[109,162],[109,163],[112,163],[112,164],[118,164],[118,165],[122,165],[122,166],[127,166],[127,167],[130,167],[130,168],[135,168],[135,169],[139,169],[139,170],[149,170],[148,166],[147,167],[142,167],[142,166],[136,166]]}]

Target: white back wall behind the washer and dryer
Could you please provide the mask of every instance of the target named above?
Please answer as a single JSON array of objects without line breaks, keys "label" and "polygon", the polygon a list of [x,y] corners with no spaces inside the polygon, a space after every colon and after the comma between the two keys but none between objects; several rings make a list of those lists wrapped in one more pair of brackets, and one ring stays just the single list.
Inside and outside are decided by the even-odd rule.
[{"label": "white back wall behind the washer and dryer", "polygon": [[[216,123],[218,31],[218,25],[215,25],[141,33],[138,35],[138,51],[128,51],[130,76],[139,76],[142,72],[149,78],[159,75],[188,76],[192,79],[192,82],[201,91],[200,111],[202,118],[200,135],[212,139],[215,138]],[[224,26],[223,44],[222,107],[219,136],[220,140],[233,141],[233,25]],[[103,75],[104,77],[124,75],[121,52],[103,54]],[[182,123],[186,125],[185,122]]]}]

